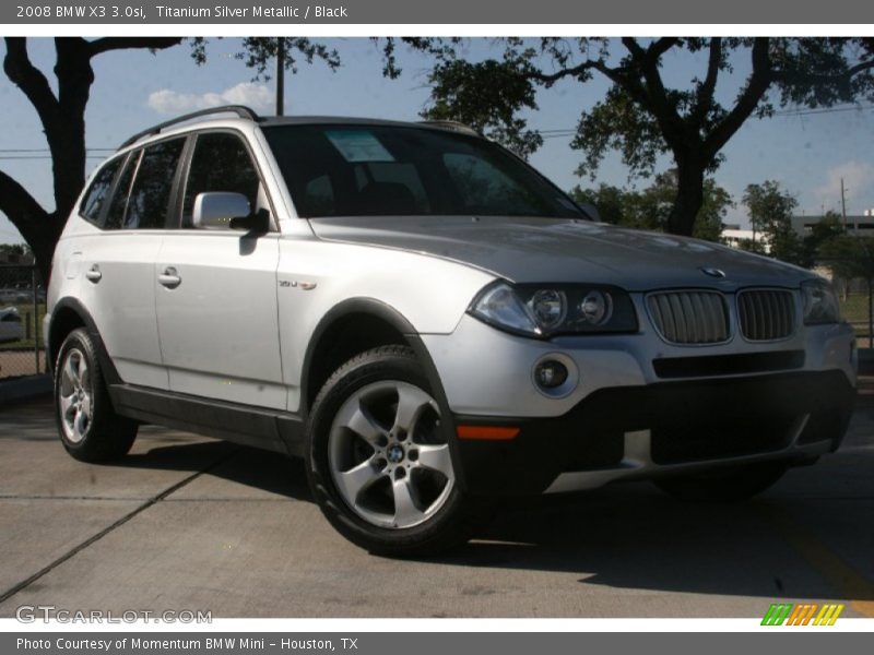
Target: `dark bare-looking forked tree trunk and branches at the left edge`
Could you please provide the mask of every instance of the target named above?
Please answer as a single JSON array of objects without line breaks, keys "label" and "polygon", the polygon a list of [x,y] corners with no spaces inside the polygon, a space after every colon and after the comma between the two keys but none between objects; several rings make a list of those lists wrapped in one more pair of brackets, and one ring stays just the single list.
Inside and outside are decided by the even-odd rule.
[{"label": "dark bare-looking forked tree trunk and branches at the left edge", "polygon": [[131,48],[169,48],[180,38],[79,37],[55,39],[57,93],[27,53],[24,37],[7,37],[3,71],[39,115],[51,153],[55,210],[44,209],[27,190],[0,171],[0,211],[33,249],[39,273],[48,279],[55,245],[64,221],[85,183],[85,106],[94,82],[92,60],[106,52]]}]

